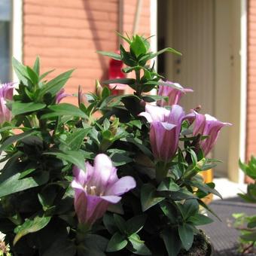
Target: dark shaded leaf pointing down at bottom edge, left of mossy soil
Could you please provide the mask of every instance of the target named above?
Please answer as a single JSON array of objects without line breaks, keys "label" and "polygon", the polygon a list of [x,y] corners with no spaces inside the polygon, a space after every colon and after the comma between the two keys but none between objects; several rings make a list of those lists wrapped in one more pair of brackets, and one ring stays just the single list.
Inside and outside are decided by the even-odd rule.
[{"label": "dark shaded leaf pointing down at bottom edge, left of mossy soil", "polygon": [[181,240],[178,239],[177,230],[171,230],[166,228],[161,233],[164,245],[166,245],[166,251],[168,256],[177,256],[178,252],[181,250]]}]

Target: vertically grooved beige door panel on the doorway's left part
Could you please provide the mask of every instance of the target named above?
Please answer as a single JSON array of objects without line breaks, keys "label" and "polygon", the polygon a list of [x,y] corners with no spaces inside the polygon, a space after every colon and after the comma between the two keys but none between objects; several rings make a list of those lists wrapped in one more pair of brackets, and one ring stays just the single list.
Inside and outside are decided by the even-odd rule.
[{"label": "vertically grooved beige door panel on the doorway's left part", "polygon": [[194,93],[184,96],[181,104],[188,110],[202,105],[202,111],[214,110],[214,31],[212,0],[174,0],[173,47],[182,53],[175,56],[173,80]]}]

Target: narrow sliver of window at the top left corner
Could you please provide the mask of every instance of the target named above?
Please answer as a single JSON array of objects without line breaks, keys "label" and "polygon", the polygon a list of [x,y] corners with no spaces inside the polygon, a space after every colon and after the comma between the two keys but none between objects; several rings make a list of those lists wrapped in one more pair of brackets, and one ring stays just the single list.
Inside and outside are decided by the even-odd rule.
[{"label": "narrow sliver of window at the top left corner", "polygon": [[11,0],[0,1],[0,82],[10,80]]}]

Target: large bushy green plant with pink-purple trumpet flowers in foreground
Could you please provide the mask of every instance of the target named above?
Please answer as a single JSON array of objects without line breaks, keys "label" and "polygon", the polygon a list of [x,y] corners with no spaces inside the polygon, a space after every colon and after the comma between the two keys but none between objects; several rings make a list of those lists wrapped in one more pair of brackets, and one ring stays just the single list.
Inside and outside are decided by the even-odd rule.
[{"label": "large bushy green plant with pink-purple trumpet flowers in foreground", "polygon": [[[150,65],[161,53],[180,53],[152,53],[139,35],[123,39],[129,50],[99,53],[135,78],[103,84],[134,93],[112,96],[96,82],[96,93],[78,90],[78,107],[59,102],[72,71],[47,81],[38,58],[32,68],[14,59],[17,93],[13,84],[0,93],[0,230],[12,253],[184,254],[197,226],[212,222],[200,214],[200,206],[211,212],[202,199],[221,196],[198,174],[215,166],[206,155],[229,123],[186,114],[178,101],[190,90]],[[158,95],[148,94],[154,89]]]}]

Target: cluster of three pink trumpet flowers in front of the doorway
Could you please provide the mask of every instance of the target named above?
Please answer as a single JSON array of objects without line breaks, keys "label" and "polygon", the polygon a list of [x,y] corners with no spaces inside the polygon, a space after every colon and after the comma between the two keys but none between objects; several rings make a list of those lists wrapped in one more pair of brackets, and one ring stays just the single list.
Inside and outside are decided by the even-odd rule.
[{"label": "cluster of three pink trumpet flowers in front of the doorway", "polygon": [[[169,82],[169,84],[173,84]],[[154,157],[157,160],[168,162],[175,157],[178,149],[178,139],[181,132],[181,123],[184,120],[194,122],[193,135],[207,136],[206,139],[200,141],[200,148],[204,155],[209,154],[218,139],[218,134],[222,127],[230,126],[230,123],[222,123],[209,114],[198,114],[192,111],[185,114],[183,108],[178,105],[181,96],[186,92],[193,90],[184,89],[181,85],[174,83],[175,87],[160,85],[158,95],[168,96],[168,102],[160,100],[158,106],[146,105],[145,112],[139,116],[145,117],[151,123],[150,142]],[[170,110],[164,106],[171,106]]]}]

